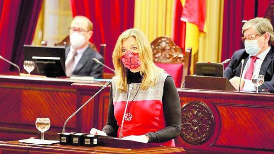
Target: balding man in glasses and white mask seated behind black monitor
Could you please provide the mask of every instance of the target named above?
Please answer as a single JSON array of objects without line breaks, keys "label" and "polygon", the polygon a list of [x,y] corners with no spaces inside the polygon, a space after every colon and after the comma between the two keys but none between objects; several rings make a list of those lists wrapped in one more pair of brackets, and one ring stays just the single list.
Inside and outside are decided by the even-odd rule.
[{"label": "balding man in glasses and white mask seated behind black monitor", "polygon": [[91,76],[102,78],[103,66],[92,58],[104,63],[101,54],[90,47],[89,39],[93,34],[92,22],[85,16],[75,16],[70,24],[70,46],[66,48],[66,75]]}]

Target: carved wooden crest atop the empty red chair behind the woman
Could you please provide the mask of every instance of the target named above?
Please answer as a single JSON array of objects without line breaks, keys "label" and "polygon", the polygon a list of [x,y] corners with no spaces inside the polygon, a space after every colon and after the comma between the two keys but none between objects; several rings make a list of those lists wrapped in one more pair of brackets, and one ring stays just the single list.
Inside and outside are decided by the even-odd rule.
[{"label": "carved wooden crest atop the empty red chair behind the woman", "polygon": [[182,49],[168,37],[159,37],[151,43],[154,62],[182,63],[184,56]]}]

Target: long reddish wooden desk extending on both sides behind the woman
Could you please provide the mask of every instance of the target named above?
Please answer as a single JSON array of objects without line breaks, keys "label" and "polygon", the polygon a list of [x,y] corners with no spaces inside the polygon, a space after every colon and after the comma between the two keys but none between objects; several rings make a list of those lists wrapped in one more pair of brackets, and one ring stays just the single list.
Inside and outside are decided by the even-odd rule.
[{"label": "long reddish wooden desk extending on both sides behind the woman", "polygon": [[[49,132],[104,84],[0,76],[0,140],[38,136],[37,117],[49,117]],[[213,83],[212,83],[213,84]],[[274,95],[178,88],[182,130],[176,146],[188,151],[274,153]],[[88,133],[106,123],[109,88],[67,124],[66,132]],[[47,138],[45,134],[45,138]]]}]

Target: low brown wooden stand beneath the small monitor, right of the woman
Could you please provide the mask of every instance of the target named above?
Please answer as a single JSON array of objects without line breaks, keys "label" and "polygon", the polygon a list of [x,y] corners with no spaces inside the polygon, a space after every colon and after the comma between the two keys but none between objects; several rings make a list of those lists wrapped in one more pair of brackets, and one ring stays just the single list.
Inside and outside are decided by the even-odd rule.
[{"label": "low brown wooden stand beneath the small monitor, right of the woman", "polygon": [[237,91],[225,77],[185,76],[185,88]]}]

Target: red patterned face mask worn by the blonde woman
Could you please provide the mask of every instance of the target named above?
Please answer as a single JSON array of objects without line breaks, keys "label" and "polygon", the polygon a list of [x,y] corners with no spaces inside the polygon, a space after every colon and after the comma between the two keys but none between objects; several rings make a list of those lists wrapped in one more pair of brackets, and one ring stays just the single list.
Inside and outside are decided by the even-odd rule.
[{"label": "red patterned face mask worn by the blonde woman", "polygon": [[139,54],[128,50],[122,57],[121,60],[124,66],[128,69],[136,69],[140,66]]}]

